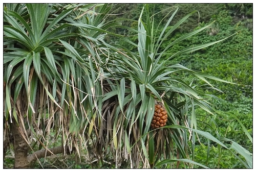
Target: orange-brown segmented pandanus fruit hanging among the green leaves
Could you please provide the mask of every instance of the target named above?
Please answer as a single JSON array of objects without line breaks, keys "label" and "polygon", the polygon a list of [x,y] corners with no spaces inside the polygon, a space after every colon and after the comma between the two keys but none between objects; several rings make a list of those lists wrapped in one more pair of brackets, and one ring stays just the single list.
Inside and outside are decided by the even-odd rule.
[{"label": "orange-brown segmented pandanus fruit hanging among the green leaves", "polygon": [[155,105],[155,112],[151,122],[152,129],[158,129],[159,127],[164,127],[167,121],[167,112],[161,103]]}]

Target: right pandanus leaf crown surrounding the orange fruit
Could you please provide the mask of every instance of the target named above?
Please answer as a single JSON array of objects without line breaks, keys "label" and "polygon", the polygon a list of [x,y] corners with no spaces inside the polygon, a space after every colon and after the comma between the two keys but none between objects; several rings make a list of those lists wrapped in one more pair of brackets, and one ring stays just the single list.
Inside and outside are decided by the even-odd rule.
[{"label": "right pandanus leaf crown surrounding the orange fruit", "polygon": [[[97,128],[99,133],[113,138],[109,144],[116,158],[116,166],[121,165],[118,159],[122,157],[122,160],[126,159],[129,162],[131,168],[161,166],[169,162],[178,162],[178,166],[180,161],[184,161],[189,167],[191,167],[190,164],[206,167],[190,160],[189,155],[194,154],[197,133],[227,147],[209,133],[197,130],[195,107],[200,107],[211,114],[214,110],[210,108],[204,95],[200,95],[197,90],[199,86],[193,86],[192,82],[187,84],[182,79],[181,73],[195,75],[213,89],[217,88],[212,86],[206,78],[226,81],[190,70],[179,64],[166,66],[165,62],[179,54],[190,53],[222,40],[188,47],[160,62],[167,48],[206,29],[212,23],[180,37],[159,53],[158,49],[162,41],[196,11],[186,15],[164,35],[167,26],[178,11],[178,8],[173,8],[175,10],[173,15],[159,38],[155,40],[154,16],[150,16],[147,5],[144,7],[146,22],[141,20],[143,10],[138,21],[138,55],[131,52],[129,55],[118,54],[112,63],[109,63],[115,67],[109,67],[112,74],[110,72],[108,76],[112,77],[105,79],[111,88],[103,95],[102,107],[105,107],[105,110]],[[151,130],[155,102],[164,104],[168,121],[166,127]],[[191,148],[188,146],[188,138],[192,141]],[[100,139],[99,142],[101,142]],[[98,148],[102,150],[101,147]],[[165,160],[161,161],[162,159]]]}]

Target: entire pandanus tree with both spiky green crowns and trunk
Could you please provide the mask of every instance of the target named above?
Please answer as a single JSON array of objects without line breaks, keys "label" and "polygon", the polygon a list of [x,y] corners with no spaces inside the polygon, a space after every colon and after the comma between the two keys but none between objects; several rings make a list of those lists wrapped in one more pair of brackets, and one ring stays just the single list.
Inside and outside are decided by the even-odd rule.
[{"label": "entire pandanus tree with both spiky green crowns and trunk", "polygon": [[[225,81],[179,64],[166,65],[179,54],[222,40],[188,47],[161,60],[173,44],[211,24],[180,37],[159,52],[163,40],[196,11],[166,31],[178,11],[172,8],[172,16],[156,39],[154,15],[150,15],[147,5],[138,19],[137,31],[118,20],[105,22],[111,7],[5,4],[4,155],[12,142],[15,168],[27,168],[32,161],[59,153],[75,152],[81,157],[82,151],[95,155],[99,162],[111,156],[116,167],[125,162],[131,168],[153,168],[174,161],[206,167],[190,158],[196,134],[227,148],[211,134],[198,130],[195,107],[208,113],[214,110],[197,90],[200,86],[184,81],[181,73],[195,75],[214,89],[207,78]],[[138,45],[109,32],[111,27],[134,31]],[[138,53],[106,43],[106,34],[137,46]],[[152,128],[156,103],[164,109],[167,120],[165,126]],[[52,132],[61,138],[60,146],[49,144]],[[244,164],[250,166],[251,156],[243,156],[247,158]]]}]

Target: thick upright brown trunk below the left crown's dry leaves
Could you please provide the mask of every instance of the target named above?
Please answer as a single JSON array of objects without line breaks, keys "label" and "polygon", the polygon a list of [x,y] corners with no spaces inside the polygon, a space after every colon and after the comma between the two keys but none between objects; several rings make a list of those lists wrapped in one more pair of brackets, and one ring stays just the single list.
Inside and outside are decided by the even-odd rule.
[{"label": "thick upright brown trunk below the left crown's dry leaves", "polygon": [[[20,123],[20,122],[19,122]],[[14,136],[14,168],[29,168],[28,156],[28,144],[25,141],[25,131],[22,125],[18,125],[15,120],[12,124],[13,136]]]}]

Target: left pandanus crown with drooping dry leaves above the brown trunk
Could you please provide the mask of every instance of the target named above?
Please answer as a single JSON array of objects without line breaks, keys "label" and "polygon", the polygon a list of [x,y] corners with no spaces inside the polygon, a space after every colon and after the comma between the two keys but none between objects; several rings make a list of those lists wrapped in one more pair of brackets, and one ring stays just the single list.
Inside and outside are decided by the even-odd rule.
[{"label": "left pandanus crown with drooping dry leaves above the brown trunk", "polygon": [[[110,55],[102,36],[120,25],[104,23],[111,5],[4,8],[4,137],[5,143],[14,141],[14,167],[74,149],[79,155],[84,129],[101,111],[101,64]],[[52,129],[62,140],[54,149],[48,144]],[[36,138],[39,151],[28,156],[35,151],[30,138]]]}]

